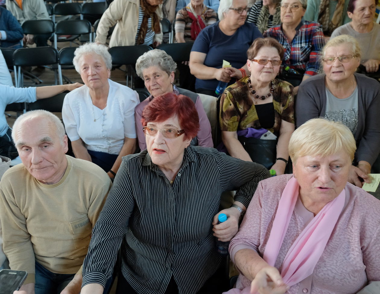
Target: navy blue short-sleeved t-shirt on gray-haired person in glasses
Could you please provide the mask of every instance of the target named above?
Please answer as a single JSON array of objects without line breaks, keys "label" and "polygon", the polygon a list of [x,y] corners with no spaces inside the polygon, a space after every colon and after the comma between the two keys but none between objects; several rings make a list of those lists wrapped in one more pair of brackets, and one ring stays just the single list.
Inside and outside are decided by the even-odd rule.
[{"label": "navy blue short-sleeved t-shirt on gray-haired person in glasses", "polygon": [[[255,24],[245,23],[232,36],[219,29],[219,22],[205,27],[196,37],[191,51],[206,53],[204,65],[221,68],[223,59],[234,68],[241,68],[247,62],[247,50],[252,42],[263,37]],[[217,79],[196,79],[196,89],[215,90]]]}]

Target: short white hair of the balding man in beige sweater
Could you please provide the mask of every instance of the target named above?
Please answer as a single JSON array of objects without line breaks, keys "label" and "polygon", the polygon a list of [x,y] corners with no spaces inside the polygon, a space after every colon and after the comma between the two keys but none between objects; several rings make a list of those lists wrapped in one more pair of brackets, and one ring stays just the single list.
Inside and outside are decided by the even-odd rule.
[{"label": "short white hair of the balding man in beige sweater", "polygon": [[39,110],[31,110],[24,114],[21,114],[16,119],[16,121],[14,121],[13,129],[12,129],[12,140],[15,145],[16,145],[15,136],[16,136],[17,129],[19,129],[22,122],[26,120],[31,120],[33,118],[45,118],[49,120],[55,126],[56,134],[59,138],[62,139],[60,143],[63,144],[63,137],[66,135],[66,132],[65,132],[65,127],[62,124],[62,121],[55,114],[52,114],[51,112],[46,111],[46,110],[39,109]]}]

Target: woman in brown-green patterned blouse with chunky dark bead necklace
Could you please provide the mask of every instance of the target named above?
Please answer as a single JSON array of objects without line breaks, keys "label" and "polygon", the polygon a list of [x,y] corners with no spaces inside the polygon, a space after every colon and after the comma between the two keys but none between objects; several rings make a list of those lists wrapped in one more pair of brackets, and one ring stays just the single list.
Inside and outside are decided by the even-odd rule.
[{"label": "woman in brown-green patterned blouse with chunky dark bead necklace", "polygon": [[247,51],[251,75],[227,87],[220,100],[220,127],[228,153],[261,163],[277,175],[285,171],[294,131],[293,86],[275,78],[283,54],[277,40],[256,39]]}]

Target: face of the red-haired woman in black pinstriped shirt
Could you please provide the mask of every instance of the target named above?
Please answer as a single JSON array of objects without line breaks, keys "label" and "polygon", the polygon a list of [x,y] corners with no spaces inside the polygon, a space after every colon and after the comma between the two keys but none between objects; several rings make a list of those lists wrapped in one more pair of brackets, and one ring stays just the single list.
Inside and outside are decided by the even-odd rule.
[{"label": "face of the red-haired woman in black pinstriped shirt", "polygon": [[[158,130],[182,130],[177,116],[166,119],[163,122],[148,122],[147,127],[154,127]],[[182,134],[176,138],[165,138],[161,132],[157,132],[154,136],[146,132],[146,146],[152,162],[159,167],[180,165],[184,157],[184,150],[191,142],[191,139],[184,140],[184,135]]]}]

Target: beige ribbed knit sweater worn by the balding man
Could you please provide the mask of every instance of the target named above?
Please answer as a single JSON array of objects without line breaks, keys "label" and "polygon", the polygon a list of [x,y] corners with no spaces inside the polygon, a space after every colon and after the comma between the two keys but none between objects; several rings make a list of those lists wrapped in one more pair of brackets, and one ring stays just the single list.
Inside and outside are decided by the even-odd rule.
[{"label": "beige ribbed knit sweater worn by the balding man", "polygon": [[97,165],[70,156],[67,162],[56,184],[40,183],[23,164],[0,182],[3,249],[11,269],[28,272],[25,283],[34,283],[35,261],[54,273],[79,270],[111,187]]}]

